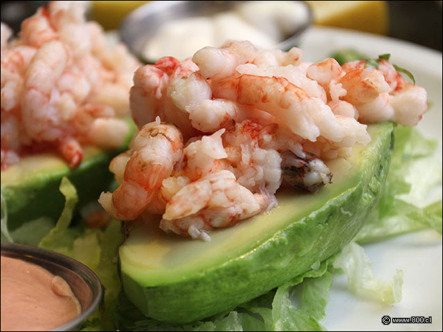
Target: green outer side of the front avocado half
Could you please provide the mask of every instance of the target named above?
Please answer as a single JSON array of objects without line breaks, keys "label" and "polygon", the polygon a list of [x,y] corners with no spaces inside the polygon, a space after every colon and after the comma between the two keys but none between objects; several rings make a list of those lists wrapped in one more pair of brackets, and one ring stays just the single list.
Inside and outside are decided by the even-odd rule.
[{"label": "green outer side of the front avocado half", "polygon": [[393,126],[385,123],[371,127],[377,136],[371,134],[372,142],[361,151],[356,180],[337,187],[340,191],[333,199],[301,220],[288,214],[282,229],[260,241],[251,240],[251,247],[237,257],[180,275],[175,282],[157,280],[154,284],[129,268],[128,264],[134,263],[125,259],[120,248],[120,276],[127,297],[148,317],[186,324],[231,310],[334,255],[359,232],[377,205],[386,179]]}]

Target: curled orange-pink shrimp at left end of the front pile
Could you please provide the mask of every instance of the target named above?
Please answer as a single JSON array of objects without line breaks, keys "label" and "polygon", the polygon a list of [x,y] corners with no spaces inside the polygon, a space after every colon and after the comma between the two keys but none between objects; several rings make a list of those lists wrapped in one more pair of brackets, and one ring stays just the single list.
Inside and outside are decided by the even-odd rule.
[{"label": "curled orange-pink shrimp at left end of the front pile", "polygon": [[181,158],[183,140],[172,124],[145,124],[131,142],[123,182],[114,193],[102,192],[99,203],[118,220],[134,220],[172,174]]}]

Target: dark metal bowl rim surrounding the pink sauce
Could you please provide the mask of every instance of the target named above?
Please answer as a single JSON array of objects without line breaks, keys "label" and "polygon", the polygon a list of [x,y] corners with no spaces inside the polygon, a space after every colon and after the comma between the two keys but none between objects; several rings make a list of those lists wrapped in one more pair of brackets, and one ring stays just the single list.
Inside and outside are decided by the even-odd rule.
[{"label": "dark metal bowl rim surrounding the pink sauce", "polygon": [[82,305],[82,313],[70,322],[51,331],[75,331],[96,310],[102,299],[102,285],[93,271],[79,261],[33,246],[17,243],[1,243],[1,255],[28,261],[62,277]]}]

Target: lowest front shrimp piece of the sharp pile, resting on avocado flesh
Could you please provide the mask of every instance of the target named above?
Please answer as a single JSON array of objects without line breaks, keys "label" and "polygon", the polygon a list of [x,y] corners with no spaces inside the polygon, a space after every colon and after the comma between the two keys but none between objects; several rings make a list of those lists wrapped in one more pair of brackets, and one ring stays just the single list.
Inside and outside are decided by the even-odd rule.
[{"label": "lowest front shrimp piece of the sharp pile, resting on avocado flesh", "polygon": [[268,206],[264,195],[253,194],[237,183],[233,173],[220,170],[177,192],[166,205],[160,228],[208,241],[206,231],[235,225]]}]

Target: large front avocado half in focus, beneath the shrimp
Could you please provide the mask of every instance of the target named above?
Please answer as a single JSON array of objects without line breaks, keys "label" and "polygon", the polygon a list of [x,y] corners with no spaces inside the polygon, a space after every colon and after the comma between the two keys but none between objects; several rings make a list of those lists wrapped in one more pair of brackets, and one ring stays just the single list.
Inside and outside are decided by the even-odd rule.
[{"label": "large front avocado half in focus, beneath the shrimp", "polygon": [[186,324],[235,308],[305,273],[349,243],[379,201],[393,126],[371,125],[372,142],[328,166],[331,185],[316,194],[281,192],[278,208],[215,230],[211,241],[133,228],[120,247],[129,299],[148,317]]}]

